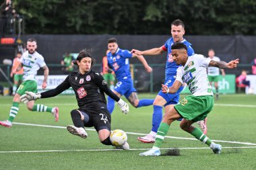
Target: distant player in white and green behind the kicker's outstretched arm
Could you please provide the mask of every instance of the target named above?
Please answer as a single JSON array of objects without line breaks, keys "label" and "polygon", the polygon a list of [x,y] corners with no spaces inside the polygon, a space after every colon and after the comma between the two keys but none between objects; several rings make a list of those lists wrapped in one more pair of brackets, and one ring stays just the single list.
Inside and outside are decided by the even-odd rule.
[{"label": "distant player in white and green behind the kicker's outstretched arm", "polygon": [[[215,56],[215,52],[213,49],[208,50],[208,58],[209,60],[214,60],[214,61],[220,61],[220,58],[218,56]],[[216,89],[216,99],[219,98],[219,87],[218,87],[218,81],[219,81],[219,75],[220,71],[222,72],[222,76],[225,76],[225,71],[224,69],[219,69],[217,67],[208,67],[207,69],[207,75],[208,79],[210,81],[210,85],[214,83],[214,87]]]}]

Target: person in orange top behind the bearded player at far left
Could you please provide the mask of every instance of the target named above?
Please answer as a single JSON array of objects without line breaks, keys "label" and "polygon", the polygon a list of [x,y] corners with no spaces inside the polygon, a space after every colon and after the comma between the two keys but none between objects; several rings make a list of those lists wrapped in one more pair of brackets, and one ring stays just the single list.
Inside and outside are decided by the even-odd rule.
[{"label": "person in orange top behind the bearded player at far left", "polygon": [[13,59],[13,65],[11,68],[11,74],[10,76],[13,77],[13,87],[12,87],[12,95],[15,95],[16,90],[18,89],[18,86],[22,83],[22,77],[23,77],[23,67],[19,71],[17,71],[19,65],[20,65],[20,58],[22,58],[22,52],[18,52],[16,57]]}]

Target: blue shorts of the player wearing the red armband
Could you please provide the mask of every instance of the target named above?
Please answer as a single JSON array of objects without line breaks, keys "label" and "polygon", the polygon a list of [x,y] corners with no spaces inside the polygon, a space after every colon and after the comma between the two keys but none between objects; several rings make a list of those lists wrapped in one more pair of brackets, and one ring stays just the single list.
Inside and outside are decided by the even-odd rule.
[{"label": "blue shorts of the player wearing the red armband", "polygon": [[[166,80],[166,81],[164,82],[164,85],[167,85],[168,87],[171,87],[172,84],[174,83],[174,81],[175,81],[175,79]],[[180,93],[181,93],[181,91],[183,91],[183,88],[184,88],[184,87],[181,86],[181,87],[179,88],[179,90],[177,91],[177,93],[174,93],[174,94],[162,93],[162,90],[160,90],[160,91],[158,92],[158,95],[162,96],[162,97],[166,100],[166,104],[165,104],[164,106],[166,106],[166,105],[171,105],[171,104],[177,104],[177,103],[179,102]]]}]

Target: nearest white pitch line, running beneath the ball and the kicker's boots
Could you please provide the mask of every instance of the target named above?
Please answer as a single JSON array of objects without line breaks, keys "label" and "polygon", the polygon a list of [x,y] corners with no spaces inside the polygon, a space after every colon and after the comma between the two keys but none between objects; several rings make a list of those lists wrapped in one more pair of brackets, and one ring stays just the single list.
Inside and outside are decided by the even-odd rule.
[{"label": "nearest white pitch line, running beneath the ball and the kicker's boots", "polygon": [[[222,148],[256,148],[256,146],[241,146],[241,147],[222,147]],[[146,151],[151,148],[130,148],[129,151]],[[202,148],[160,148],[160,150],[169,150],[169,149],[210,149],[209,147]],[[63,153],[63,152],[84,152],[84,151],[123,151],[122,149],[77,149],[77,150],[49,150],[49,151],[0,151],[0,153]]]}]

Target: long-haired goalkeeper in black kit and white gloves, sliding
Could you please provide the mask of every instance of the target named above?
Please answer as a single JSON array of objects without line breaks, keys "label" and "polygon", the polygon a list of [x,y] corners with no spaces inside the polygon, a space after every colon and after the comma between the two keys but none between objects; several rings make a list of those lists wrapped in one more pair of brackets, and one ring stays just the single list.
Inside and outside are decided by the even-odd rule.
[{"label": "long-haired goalkeeper in black kit and white gloves, sliding", "polygon": [[[26,91],[20,98],[26,103],[40,98],[54,97],[72,87],[79,108],[71,111],[74,126],[67,126],[67,130],[71,134],[87,138],[88,134],[84,127],[94,126],[102,144],[114,145],[110,142],[111,116],[106,108],[104,93],[117,101],[117,105],[124,114],[129,112],[129,105],[108,89],[108,85],[100,73],[92,71],[93,61],[90,52],[82,50],[77,59],[73,61],[78,66],[78,72],[70,73],[65,81],[55,89],[42,93]],[[127,142],[122,147],[129,150]]]}]

